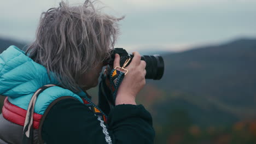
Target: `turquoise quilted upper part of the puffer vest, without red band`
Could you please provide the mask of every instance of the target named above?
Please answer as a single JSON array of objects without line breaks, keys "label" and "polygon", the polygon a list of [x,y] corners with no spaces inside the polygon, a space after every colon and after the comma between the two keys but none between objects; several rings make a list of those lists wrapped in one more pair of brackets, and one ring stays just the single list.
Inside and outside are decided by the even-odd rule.
[{"label": "turquoise quilted upper part of the puffer vest, without red band", "polygon": [[[27,110],[34,92],[48,84],[59,85],[59,82],[53,77],[49,79],[43,65],[34,62],[18,47],[10,46],[1,53],[0,95],[8,97],[11,104]],[[61,87],[50,87],[45,89],[38,97],[34,112],[43,115],[53,100],[67,95],[78,99],[81,103],[83,103],[83,100],[80,97],[86,97],[84,92],[75,94]]]}]

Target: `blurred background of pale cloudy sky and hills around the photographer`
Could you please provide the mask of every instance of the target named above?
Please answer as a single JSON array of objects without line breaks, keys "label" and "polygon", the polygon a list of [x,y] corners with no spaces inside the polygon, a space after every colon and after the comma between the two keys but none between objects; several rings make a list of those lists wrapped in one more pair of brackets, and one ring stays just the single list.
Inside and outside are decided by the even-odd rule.
[{"label": "blurred background of pale cloudy sky and hills around the photographer", "polygon": [[[59,2],[2,1],[0,52],[10,45],[26,48],[40,14]],[[152,113],[155,143],[256,143],[256,0],[98,5],[108,14],[126,16],[116,47],[164,57],[162,79],[147,80],[137,96]],[[97,91],[89,91],[95,103]]]}]

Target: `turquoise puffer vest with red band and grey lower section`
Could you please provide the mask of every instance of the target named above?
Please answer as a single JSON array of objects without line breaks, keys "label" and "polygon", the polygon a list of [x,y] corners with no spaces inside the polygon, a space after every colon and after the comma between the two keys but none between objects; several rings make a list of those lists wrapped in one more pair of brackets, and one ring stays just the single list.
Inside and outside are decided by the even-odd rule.
[{"label": "turquoise puffer vest with red band and grey lower section", "polygon": [[[34,62],[16,46],[10,46],[0,54],[0,95],[7,97],[0,115],[0,143],[21,143],[28,104],[32,95],[42,86],[60,83],[51,75],[48,76],[43,65]],[[33,114],[33,141],[38,141],[38,128],[45,110],[55,100],[63,97],[79,100],[92,107],[93,112],[101,116],[103,113],[81,91],[73,93],[68,89],[53,86],[39,94],[34,105]],[[106,119],[103,116],[102,119]]]}]

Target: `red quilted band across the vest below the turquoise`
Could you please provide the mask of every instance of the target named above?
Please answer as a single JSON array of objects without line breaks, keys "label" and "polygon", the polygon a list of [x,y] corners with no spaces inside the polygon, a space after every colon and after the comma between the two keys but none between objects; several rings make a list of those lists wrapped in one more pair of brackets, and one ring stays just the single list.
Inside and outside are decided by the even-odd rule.
[{"label": "red quilted band across the vest below the turquoise", "polygon": [[[24,126],[27,110],[21,109],[20,107],[11,104],[8,98],[4,100],[3,106],[3,117],[10,122]],[[43,115],[34,113],[33,115],[33,128],[38,129],[39,123]]]}]

